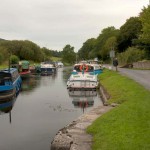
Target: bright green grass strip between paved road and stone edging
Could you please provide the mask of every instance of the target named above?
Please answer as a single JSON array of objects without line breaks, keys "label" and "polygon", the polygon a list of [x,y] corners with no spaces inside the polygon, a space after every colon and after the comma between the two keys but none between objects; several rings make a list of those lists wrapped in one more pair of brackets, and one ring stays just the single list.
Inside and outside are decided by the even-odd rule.
[{"label": "bright green grass strip between paved road and stone edging", "polygon": [[101,84],[120,105],[98,118],[87,132],[93,150],[150,149],[150,91],[127,77],[105,70]]}]

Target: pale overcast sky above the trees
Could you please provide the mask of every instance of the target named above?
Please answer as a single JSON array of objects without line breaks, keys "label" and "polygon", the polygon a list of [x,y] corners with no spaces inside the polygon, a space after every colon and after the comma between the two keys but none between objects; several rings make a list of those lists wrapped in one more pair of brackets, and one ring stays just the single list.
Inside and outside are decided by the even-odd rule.
[{"label": "pale overcast sky above the trees", "polygon": [[61,51],[77,52],[104,28],[119,29],[138,16],[149,0],[0,0],[0,38],[30,40]]}]

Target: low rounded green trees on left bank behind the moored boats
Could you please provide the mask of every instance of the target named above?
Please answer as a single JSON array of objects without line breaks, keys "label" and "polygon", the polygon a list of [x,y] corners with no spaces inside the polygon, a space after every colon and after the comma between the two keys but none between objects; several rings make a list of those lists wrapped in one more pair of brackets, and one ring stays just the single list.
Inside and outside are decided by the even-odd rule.
[{"label": "low rounded green trees on left bank behind the moored boats", "polygon": [[40,48],[29,40],[0,39],[0,63],[7,62],[11,56],[17,57],[18,60],[42,62],[51,60],[51,57],[61,57],[61,53],[46,47]]}]

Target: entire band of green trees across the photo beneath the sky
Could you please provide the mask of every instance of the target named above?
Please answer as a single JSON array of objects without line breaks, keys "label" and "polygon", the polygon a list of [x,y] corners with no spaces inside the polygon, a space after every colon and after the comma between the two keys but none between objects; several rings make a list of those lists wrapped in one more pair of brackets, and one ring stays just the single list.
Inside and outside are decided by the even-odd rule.
[{"label": "entire band of green trees across the photo beneath the sky", "polygon": [[76,60],[98,58],[110,59],[109,52],[114,50],[122,63],[132,63],[150,59],[150,6],[143,7],[137,17],[130,17],[116,29],[114,26],[104,28],[97,38],[87,39],[77,53],[70,44],[62,51],[40,48],[37,44],[25,41],[7,41],[0,39],[0,63],[8,60],[10,55],[19,59],[41,62],[52,56],[61,57],[64,63],[73,64]]}]

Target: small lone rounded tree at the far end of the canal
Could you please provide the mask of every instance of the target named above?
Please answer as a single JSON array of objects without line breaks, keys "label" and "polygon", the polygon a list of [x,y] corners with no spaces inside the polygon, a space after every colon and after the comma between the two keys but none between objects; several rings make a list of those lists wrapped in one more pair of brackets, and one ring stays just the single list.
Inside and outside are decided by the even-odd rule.
[{"label": "small lone rounded tree at the far end of the canal", "polygon": [[66,45],[62,51],[62,61],[73,64],[75,60],[76,53],[74,52],[74,47],[71,47],[69,44]]}]

